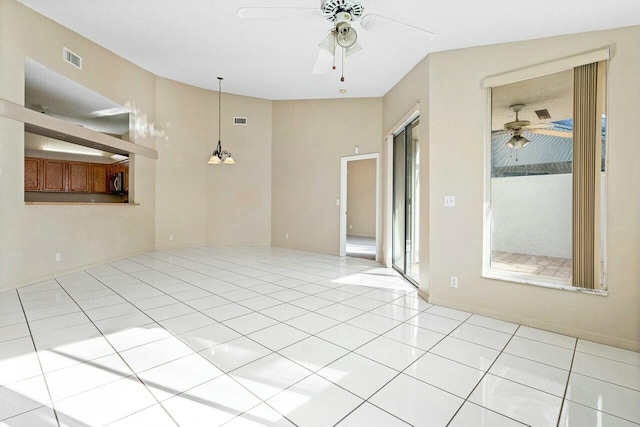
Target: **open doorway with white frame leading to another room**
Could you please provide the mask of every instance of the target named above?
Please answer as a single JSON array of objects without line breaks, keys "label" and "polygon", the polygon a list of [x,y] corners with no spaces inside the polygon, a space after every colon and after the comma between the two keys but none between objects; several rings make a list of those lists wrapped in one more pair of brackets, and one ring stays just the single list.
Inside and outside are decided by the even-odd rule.
[{"label": "open doorway with white frame leading to another room", "polygon": [[341,159],[340,256],[378,261],[378,160],[378,153]]}]

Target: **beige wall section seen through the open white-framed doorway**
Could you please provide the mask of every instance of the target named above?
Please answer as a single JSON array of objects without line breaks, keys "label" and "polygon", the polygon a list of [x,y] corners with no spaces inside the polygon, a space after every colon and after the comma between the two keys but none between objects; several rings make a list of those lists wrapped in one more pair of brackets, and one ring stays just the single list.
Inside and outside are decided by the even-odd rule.
[{"label": "beige wall section seen through the open white-framed doorway", "polygon": [[347,234],[376,236],[376,160],[347,162]]}]

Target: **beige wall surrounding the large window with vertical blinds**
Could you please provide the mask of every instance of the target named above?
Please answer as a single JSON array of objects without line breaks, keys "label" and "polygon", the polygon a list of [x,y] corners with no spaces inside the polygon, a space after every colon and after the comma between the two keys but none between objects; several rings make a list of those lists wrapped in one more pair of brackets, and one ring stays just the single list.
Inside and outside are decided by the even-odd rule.
[{"label": "beige wall surrounding the large window with vertical blinds", "polygon": [[[612,48],[608,99],[608,296],[482,278],[488,128],[487,93],[482,89],[482,80],[603,46]],[[640,172],[636,167],[640,148],[628,137],[640,131],[636,120],[640,115],[639,46],[640,27],[632,27],[429,57],[431,208],[423,215],[428,216],[431,234],[427,241],[421,237],[421,242],[423,248],[427,244],[430,247],[430,268],[428,281],[421,274],[420,282],[432,302],[640,349]],[[385,102],[387,105],[392,107]],[[399,103],[385,108],[385,116],[404,113],[396,105]],[[456,208],[443,207],[445,195],[456,196]],[[449,286],[450,276],[458,276],[458,289]]]}]

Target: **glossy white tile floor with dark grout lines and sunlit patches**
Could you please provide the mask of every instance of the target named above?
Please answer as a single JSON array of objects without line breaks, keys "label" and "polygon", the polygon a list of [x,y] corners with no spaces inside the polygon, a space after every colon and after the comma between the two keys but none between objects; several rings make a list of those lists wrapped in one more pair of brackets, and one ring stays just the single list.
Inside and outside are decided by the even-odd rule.
[{"label": "glossy white tile floor with dark grout lines and sunlit patches", "polygon": [[633,426],[640,354],[433,306],[372,261],[153,252],[0,294],[3,426]]}]

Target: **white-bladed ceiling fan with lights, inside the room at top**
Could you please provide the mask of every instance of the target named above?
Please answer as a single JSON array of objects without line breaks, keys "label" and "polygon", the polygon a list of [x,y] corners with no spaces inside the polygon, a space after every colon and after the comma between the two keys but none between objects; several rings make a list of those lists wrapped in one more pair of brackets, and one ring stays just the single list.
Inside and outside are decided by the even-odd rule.
[{"label": "white-bladed ceiling fan with lights, inside the room at top", "polygon": [[[240,18],[324,18],[333,24],[326,36],[319,44],[320,51],[313,66],[313,74],[325,74],[329,70],[336,69],[336,50],[343,55],[342,64],[344,71],[344,57],[350,56],[362,49],[358,44],[358,33],[352,24],[358,23],[365,31],[377,31],[385,26],[401,26],[413,29],[430,37],[434,33],[423,28],[415,27],[407,23],[397,21],[375,13],[364,12],[364,0],[322,0],[320,8],[298,7],[242,7],[238,9]],[[386,24],[386,25],[379,25]],[[344,82],[344,72],[340,77]]]}]

